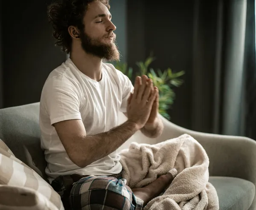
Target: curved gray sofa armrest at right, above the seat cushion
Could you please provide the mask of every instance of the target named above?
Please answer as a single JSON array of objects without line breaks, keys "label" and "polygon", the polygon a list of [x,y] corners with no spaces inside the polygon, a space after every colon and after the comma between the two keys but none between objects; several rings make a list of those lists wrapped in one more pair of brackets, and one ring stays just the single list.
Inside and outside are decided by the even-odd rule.
[{"label": "curved gray sofa armrest at right, above the seat cushion", "polygon": [[210,176],[237,177],[256,185],[256,142],[253,139],[191,131],[169,122],[163,116],[160,117],[164,130],[157,142],[187,133],[206,150]]}]

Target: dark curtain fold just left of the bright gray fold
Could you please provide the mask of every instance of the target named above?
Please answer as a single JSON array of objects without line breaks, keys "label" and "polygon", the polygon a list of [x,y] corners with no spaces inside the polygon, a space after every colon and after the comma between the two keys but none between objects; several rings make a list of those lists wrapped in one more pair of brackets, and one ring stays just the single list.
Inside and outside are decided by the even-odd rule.
[{"label": "dark curtain fold just left of the bright gray fold", "polygon": [[[218,1],[195,0],[193,23],[191,129],[212,133]],[[186,82],[186,81],[185,81]]]}]

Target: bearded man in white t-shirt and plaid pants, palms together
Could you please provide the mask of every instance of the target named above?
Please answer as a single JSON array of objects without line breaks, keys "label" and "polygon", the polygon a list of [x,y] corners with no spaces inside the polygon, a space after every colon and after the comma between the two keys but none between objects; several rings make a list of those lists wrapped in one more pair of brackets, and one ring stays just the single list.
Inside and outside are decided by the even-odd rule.
[{"label": "bearded man in white t-shirt and plaid pants, palms together", "polygon": [[[122,179],[116,149],[138,130],[159,136],[163,124],[151,79],[137,77],[133,87],[102,62],[119,60],[109,8],[108,0],[56,0],[48,11],[56,44],[70,58],[42,90],[41,146],[49,181],[71,209],[141,209],[172,180],[168,173],[131,190]],[[128,118],[122,125],[119,111]]]}]

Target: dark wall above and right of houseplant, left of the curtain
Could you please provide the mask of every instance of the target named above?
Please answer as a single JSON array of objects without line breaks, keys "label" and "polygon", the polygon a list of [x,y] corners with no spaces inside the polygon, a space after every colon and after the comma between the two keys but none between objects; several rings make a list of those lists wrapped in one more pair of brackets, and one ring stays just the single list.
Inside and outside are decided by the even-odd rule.
[{"label": "dark wall above and right of houseplant, left of the curtain", "polygon": [[128,63],[144,60],[150,52],[151,67],[186,71],[184,84],[176,88],[171,121],[191,128],[191,78],[194,1],[130,0],[128,3]]}]

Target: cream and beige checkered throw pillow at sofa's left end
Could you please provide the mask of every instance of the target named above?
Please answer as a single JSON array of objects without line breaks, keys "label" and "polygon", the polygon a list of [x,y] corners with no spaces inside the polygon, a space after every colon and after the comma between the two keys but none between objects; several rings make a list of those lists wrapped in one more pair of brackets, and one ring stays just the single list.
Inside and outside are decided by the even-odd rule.
[{"label": "cream and beige checkered throw pillow at sofa's left end", "polygon": [[[34,192],[33,196],[40,199],[40,202],[47,201],[45,205],[55,206],[55,209],[64,210],[63,204],[61,202],[61,197],[55,190],[36,173],[32,168],[17,159],[12,151],[7,147],[7,145],[0,139],[0,184],[8,185],[12,188],[6,188],[1,186],[0,190],[9,190],[8,192],[13,192],[12,198],[15,198],[24,188],[26,192]],[[15,190],[15,187],[17,189]],[[11,190],[10,190],[11,189]],[[2,191],[2,192],[3,192]],[[1,192],[0,192],[1,193]],[[11,195],[11,193],[10,193]],[[32,199],[32,204],[35,205]],[[3,204],[4,199],[0,196],[0,204]],[[33,203],[34,202],[34,203]],[[38,201],[39,202],[39,201]],[[36,203],[38,204],[38,203]],[[41,203],[40,203],[41,204]],[[39,204],[38,204],[39,205]],[[31,204],[30,204],[31,207]],[[54,209],[54,208],[51,209]],[[24,206],[23,206],[24,208]],[[16,208],[21,210],[23,208]],[[1,208],[0,208],[1,209]],[[8,208],[6,208],[8,209]],[[13,208],[12,208],[13,209]],[[30,209],[26,208],[25,209]],[[32,208],[33,209],[33,208]]]}]

